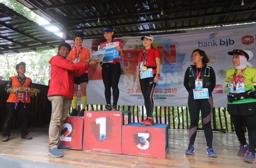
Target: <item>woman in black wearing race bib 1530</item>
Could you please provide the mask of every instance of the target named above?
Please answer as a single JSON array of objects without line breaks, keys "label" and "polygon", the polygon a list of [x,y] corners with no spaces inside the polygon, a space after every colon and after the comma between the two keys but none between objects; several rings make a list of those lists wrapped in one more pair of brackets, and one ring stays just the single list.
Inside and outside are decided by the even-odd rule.
[{"label": "woman in black wearing race bib 1530", "polygon": [[189,146],[186,154],[194,153],[194,142],[196,139],[199,113],[201,110],[204,135],[207,142],[207,154],[210,157],[217,157],[212,148],[213,130],[211,129],[211,114],[213,110],[213,91],[216,83],[215,72],[206,63],[209,59],[203,50],[196,49],[191,55],[194,65],[190,65],[185,72],[184,86],[188,93],[188,109],[190,116]]}]

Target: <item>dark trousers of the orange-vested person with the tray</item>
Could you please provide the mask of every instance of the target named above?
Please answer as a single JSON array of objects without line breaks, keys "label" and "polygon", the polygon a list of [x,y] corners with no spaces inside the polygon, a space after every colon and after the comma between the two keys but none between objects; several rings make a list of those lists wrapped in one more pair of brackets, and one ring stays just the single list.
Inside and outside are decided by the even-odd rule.
[{"label": "dark trousers of the orange-vested person with the tray", "polygon": [[26,108],[24,108],[24,103],[19,102],[18,107],[15,110],[15,103],[6,103],[6,113],[5,113],[5,122],[3,126],[3,136],[10,136],[13,116],[15,113],[18,113],[19,121],[20,121],[20,133],[21,137],[25,137],[28,135],[28,113],[29,113],[29,104],[26,104]]}]

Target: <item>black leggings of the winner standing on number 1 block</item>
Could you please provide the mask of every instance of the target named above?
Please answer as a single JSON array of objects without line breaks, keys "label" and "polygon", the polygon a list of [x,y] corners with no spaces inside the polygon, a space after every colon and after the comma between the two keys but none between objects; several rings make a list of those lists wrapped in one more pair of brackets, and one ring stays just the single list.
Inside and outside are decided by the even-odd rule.
[{"label": "black leggings of the winner standing on number 1 block", "polygon": [[111,104],[111,87],[113,90],[113,105],[117,105],[119,97],[118,83],[121,76],[121,65],[119,62],[102,64],[101,71],[103,83],[105,86],[105,98],[107,104]]}]

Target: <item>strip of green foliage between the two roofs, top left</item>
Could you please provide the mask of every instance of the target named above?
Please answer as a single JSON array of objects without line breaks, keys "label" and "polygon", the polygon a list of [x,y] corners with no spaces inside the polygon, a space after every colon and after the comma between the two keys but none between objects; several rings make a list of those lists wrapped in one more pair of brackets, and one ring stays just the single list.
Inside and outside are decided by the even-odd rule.
[{"label": "strip of green foliage between the two roofs, top left", "polygon": [[39,16],[34,12],[29,12],[29,9],[17,0],[0,0],[0,2],[13,9],[15,12],[18,12],[26,18],[38,23]]}]

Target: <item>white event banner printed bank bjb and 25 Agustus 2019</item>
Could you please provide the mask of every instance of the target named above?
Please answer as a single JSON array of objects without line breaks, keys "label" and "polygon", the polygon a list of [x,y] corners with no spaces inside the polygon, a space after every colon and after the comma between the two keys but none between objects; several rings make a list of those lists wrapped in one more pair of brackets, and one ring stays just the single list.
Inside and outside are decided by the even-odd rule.
[{"label": "white event banner printed bank bjb and 25 Agustus 2019", "polygon": [[[253,25],[253,26],[252,26]],[[216,74],[216,86],[213,91],[214,107],[227,106],[228,88],[224,84],[226,71],[233,67],[233,49],[251,50],[254,57],[249,61],[256,66],[256,26],[228,26],[187,33],[154,35],[153,46],[160,52],[160,80],[153,93],[154,106],[187,106],[188,92],[183,85],[184,73],[193,64],[191,54],[195,49],[204,50]],[[103,34],[102,34],[103,37]],[[102,38],[103,39],[103,38]],[[104,40],[83,40],[82,46],[91,52],[98,49]],[[122,42],[124,56],[120,57],[121,77],[119,80],[119,105],[144,105],[140,86],[136,84],[136,66],[139,53],[143,51],[140,37],[118,38]],[[73,44],[72,40],[66,41]],[[92,56],[92,54],[91,54]],[[101,66],[90,66],[87,85],[88,104],[106,104]],[[113,102],[113,98],[112,98]]]}]

